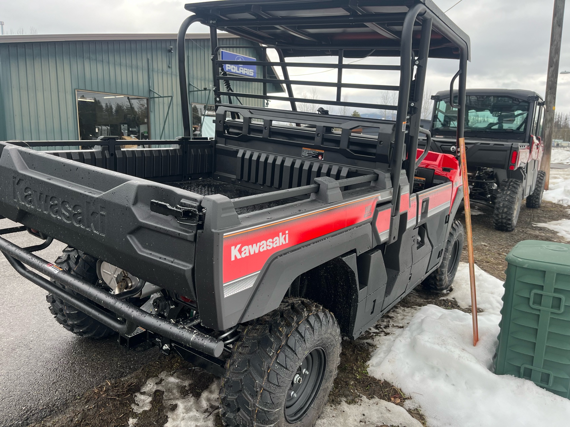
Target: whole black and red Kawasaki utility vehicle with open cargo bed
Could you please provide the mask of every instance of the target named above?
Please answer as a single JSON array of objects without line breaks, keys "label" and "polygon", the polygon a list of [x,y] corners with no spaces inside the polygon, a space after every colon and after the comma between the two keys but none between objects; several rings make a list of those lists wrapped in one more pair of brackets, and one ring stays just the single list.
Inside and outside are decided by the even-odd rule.
[{"label": "whole black and red Kawasaki utility vehicle with open cargo bed", "polygon": [[[0,214],[22,226],[0,233],[45,241],[20,248],[0,238],[0,251],[50,293],[50,310],[71,332],[118,332],[127,347],[156,344],[221,376],[226,425],[313,425],[341,335],[356,338],[422,282],[449,289],[463,244],[458,161],[417,143],[430,139],[420,128],[428,56],[458,59],[463,106],[469,38],[430,0],[385,3],[187,5],[194,15],[178,34],[184,137],[145,141],[174,145],[164,149],[121,149],[113,137],[75,151],[28,147],[79,141],[1,143]],[[193,22],[211,28],[213,141],[192,139],[184,36]],[[220,59],[234,47],[218,44],[218,28],[260,44],[257,73],[223,70],[244,64]],[[325,60],[286,60],[304,56]],[[354,63],[386,56],[400,63]],[[268,67],[283,79],[268,79]],[[292,80],[290,67],[335,68],[338,80]],[[345,83],[359,71],[397,73],[400,84]],[[242,81],[259,91],[240,92]],[[267,95],[267,84],[288,96]],[[307,85],[334,95],[295,95]],[[348,89],[361,89],[359,102],[342,101]],[[398,92],[398,105],[364,97],[385,90]],[[247,106],[251,99],[291,110]],[[299,112],[299,102],[392,109],[397,120]],[[52,239],[69,245],[54,264],[32,253]]]}]

